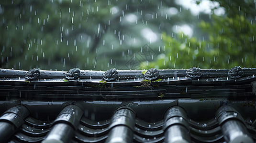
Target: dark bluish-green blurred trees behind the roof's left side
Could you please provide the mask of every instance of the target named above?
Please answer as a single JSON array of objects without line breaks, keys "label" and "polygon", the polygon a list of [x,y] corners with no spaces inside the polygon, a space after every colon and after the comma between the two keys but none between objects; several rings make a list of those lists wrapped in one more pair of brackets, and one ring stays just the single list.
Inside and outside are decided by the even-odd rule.
[{"label": "dark bluish-green blurred trees behind the roof's left side", "polygon": [[[177,7],[170,15],[168,8]],[[145,44],[141,31],[172,32],[189,22],[171,1],[140,0],[1,0],[1,68],[45,70],[127,69],[125,63]],[[130,18],[129,21],[127,20]]]}]

